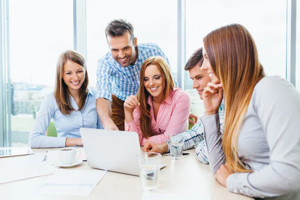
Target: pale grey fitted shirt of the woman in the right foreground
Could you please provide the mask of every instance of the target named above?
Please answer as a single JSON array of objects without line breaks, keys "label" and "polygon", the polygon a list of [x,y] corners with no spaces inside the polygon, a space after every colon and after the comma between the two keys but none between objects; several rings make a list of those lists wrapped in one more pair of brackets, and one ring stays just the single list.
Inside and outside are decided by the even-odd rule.
[{"label": "pale grey fitted shirt of the woman in the right foreground", "polygon": [[[200,117],[213,173],[225,163],[218,118]],[[300,199],[299,122],[299,91],[280,76],[262,78],[254,87],[237,140],[238,157],[253,172],[230,174],[227,189],[260,198]]]}]

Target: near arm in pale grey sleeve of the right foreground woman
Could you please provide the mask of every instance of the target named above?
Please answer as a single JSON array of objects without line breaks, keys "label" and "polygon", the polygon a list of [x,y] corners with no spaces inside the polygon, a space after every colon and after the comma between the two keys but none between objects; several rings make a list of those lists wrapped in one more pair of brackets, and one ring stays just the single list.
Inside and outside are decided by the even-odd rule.
[{"label": "near arm in pale grey sleeve of the right foreground woman", "polygon": [[267,80],[256,91],[254,106],[266,133],[270,162],[226,180],[229,191],[262,198],[300,190],[300,94],[282,78]]}]

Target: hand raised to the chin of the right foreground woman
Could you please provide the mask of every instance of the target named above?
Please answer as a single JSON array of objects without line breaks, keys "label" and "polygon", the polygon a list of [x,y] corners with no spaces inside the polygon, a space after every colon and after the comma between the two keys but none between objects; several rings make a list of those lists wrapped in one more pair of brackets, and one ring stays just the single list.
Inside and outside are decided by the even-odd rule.
[{"label": "hand raised to the chin of the right foreground woman", "polygon": [[205,115],[218,113],[219,106],[223,99],[222,84],[214,84],[208,82],[202,94],[203,104],[205,108]]}]

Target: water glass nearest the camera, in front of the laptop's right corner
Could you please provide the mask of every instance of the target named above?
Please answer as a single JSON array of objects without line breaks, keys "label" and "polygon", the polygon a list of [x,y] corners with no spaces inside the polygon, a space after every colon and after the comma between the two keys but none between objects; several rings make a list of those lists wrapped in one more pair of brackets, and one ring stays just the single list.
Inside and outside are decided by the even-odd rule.
[{"label": "water glass nearest the camera, in front of the laptop's right corner", "polygon": [[143,152],[137,155],[137,160],[142,189],[144,191],[157,189],[161,154],[155,152]]}]

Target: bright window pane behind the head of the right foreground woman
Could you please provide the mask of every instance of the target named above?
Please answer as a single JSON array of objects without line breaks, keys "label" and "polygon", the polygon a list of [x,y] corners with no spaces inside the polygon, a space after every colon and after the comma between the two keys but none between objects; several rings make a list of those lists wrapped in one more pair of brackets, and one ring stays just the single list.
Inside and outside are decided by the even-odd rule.
[{"label": "bright window pane behind the head of the right foreground woman", "polygon": [[[285,78],[286,1],[273,0],[186,0],[186,60],[203,45],[202,38],[211,30],[230,23],[244,25],[256,42],[259,60],[267,75]],[[185,74],[185,89],[191,89]],[[192,111],[203,113],[198,94],[190,91]]]}]

